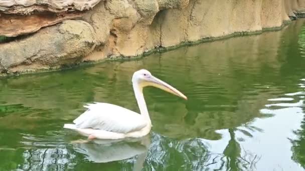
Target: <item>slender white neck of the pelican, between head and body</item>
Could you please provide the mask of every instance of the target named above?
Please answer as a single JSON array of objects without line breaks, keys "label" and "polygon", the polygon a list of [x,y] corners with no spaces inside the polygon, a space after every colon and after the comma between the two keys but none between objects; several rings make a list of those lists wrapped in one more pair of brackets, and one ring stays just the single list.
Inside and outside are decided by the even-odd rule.
[{"label": "slender white neck of the pelican, between head and body", "polygon": [[143,87],[141,87],[137,82],[133,82],[132,87],[141,115],[143,115],[144,119],[148,121],[149,124],[151,124],[146,102],[143,96]]}]

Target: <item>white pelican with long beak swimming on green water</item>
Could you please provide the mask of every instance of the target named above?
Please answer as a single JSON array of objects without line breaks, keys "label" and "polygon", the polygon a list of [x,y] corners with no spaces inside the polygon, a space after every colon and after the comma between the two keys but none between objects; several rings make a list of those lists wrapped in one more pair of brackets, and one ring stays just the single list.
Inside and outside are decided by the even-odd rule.
[{"label": "white pelican with long beak swimming on green water", "polygon": [[84,105],[87,110],[73,120],[73,123],[64,124],[64,128],[73,129],[88,139],[138,138],[148,134],[151,129],[143,87],[155,86],[187,99],[179,90],[146,69],[135,71],[131,80],[141,114],[115,104],[94,102]]}]

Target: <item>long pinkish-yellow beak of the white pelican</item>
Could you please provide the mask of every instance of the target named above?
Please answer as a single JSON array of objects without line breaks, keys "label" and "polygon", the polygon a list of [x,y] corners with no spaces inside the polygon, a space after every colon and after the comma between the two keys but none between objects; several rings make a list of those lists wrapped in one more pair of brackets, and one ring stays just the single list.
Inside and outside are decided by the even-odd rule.
[{"label": "long pinkish-yellow beak of the white pelican", "polygon": [[163,89],[165,91],[168,91],[174,95],[180,96],[184,99],[188,99],[187,96],[185,96],[182,92],[180,92],[178,89],[174,88],[172,85],[164,82],[163,80],[151,75],[149,79],[147,79],[143,86],[155,86],[157,88]]}]

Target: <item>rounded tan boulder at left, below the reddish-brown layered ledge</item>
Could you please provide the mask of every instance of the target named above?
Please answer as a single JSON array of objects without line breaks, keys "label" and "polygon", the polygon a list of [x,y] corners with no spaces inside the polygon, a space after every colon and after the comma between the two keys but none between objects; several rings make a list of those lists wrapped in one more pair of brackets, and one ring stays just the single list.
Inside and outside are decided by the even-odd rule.
[{"label": "rounded tan boulder at left, below the reddish-brown layered ledge", "polygon": [[0,44],[0,71],[31,71],[80,61],[95,47],[92,26],[65,20],[21,40]]}]

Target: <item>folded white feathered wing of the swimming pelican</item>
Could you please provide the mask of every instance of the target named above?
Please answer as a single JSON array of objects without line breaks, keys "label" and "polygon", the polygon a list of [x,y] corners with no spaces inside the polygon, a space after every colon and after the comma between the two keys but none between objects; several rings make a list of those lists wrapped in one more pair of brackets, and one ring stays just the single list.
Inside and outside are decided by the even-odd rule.
[{"label": "folded white feathered wing of the swimming pelican", "polygon": [[117,133],[140,130],[147,125],[142,115],[118,105],[96,102],[73,122],[77,128],[93,128]]}]

